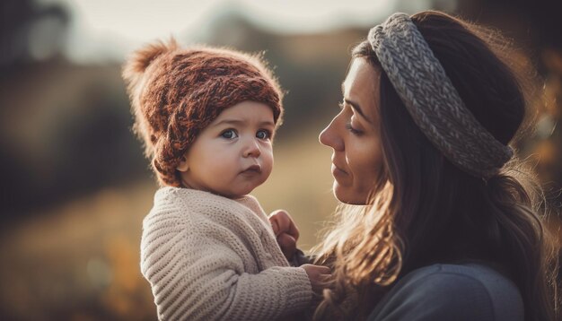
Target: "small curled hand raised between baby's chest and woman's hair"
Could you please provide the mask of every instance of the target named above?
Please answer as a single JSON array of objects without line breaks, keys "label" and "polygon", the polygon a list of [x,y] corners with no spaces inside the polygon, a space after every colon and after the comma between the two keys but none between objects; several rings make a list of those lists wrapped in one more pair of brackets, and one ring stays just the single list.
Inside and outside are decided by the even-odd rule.
[{"label": "small curled hand raised between baby's chest and woman's hair", "polygon": [[269,223],[271,223],[281,251],[287,260],[291,261],[296,251],[296,241],[299,239],[299,230],[291,215],[284,210],[274,211],[269,214]]}]

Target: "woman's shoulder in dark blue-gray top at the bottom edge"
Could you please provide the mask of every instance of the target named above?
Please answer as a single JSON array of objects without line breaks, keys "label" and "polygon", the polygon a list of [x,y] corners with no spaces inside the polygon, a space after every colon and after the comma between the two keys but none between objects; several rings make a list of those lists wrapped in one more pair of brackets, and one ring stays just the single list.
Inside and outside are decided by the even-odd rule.
[{"label": "woman's shoulder in dark blue-gray top at the bottom edge", "polygon": [[514,282],[481,264],[429,265],[397,282],[369,320],[522,320]]}]

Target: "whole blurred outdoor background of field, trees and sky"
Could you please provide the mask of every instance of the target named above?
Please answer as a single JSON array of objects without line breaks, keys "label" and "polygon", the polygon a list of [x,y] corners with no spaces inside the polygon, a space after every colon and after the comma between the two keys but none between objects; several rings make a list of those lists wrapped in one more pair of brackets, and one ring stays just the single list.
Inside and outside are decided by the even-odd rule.
[{"label": "whole blurred outdoor background of field, trees and sky", "polygon": [[171,35],[265,51],[288,94],[275,169],[253,194],[292,213],[308,249],[337,204],[317,136],[338,112],[349,50],[390,13],[425,9],[502,30],[537,69],[537,122],[519,148],[558,210],[558,0],[1,0],[0,319],[156,317],[139,240],[157,187],[120,78],[131,51]]}]

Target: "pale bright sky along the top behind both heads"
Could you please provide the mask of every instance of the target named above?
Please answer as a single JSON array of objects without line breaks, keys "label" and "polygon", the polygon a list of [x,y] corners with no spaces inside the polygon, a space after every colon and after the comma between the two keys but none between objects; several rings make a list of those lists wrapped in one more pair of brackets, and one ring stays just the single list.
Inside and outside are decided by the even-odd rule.
[{"label": "pale bright sky along the top behind both heads", "polygon": [[427,0],[38,0],[71,14],[65,53],[75,62],[117,59],[154,39],[200,39],[224,13],[235,12],[277,33],[367,27]]}]

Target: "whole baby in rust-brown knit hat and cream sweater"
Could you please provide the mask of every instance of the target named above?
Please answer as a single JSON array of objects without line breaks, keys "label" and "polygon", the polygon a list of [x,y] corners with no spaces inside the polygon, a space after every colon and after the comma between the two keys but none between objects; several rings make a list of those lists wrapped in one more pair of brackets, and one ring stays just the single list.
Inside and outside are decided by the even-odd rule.
[{"label": "whole baby in rust-brown knit hat and cream sweater", "polygon": [[123,77],[136,134],[162,186],[141,240],[158,317],[271,320],[310,307],[329,269],[290,266],[248,195],[271,173],[283,114],[267,66],[257,56],[180,48],[171,39],[138,50]]}]

